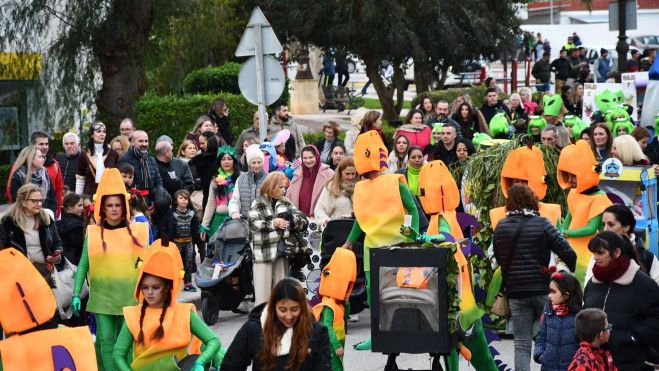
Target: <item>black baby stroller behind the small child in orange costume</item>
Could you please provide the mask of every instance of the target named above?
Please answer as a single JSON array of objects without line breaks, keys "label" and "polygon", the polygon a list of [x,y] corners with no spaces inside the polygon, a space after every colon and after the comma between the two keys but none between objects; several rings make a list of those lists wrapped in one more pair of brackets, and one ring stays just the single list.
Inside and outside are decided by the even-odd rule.
[{"label": "black baby stroller behind the small child in orange costume", "polygon": [[[321,237],[321,260],[320,269],[322,270],[329,262],[334,250],[343,246],[348,239],[354,219],[335,219],[330,220]],[[350,294],[350,314],[357,314],[368,307],[366,301],[366,276],[364,274],[364,235],[359,238],[352,246],[352,251],[357,258],[357,280]],[[320,277],[318,277],[320,284]]]}]

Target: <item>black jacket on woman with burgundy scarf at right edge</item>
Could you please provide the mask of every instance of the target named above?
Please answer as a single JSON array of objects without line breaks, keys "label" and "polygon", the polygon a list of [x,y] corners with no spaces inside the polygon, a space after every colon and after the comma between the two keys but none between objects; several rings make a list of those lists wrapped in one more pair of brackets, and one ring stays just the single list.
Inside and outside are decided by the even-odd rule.
[{"label": "black jacket on woman with burgundy scarf at right edge", "polygon": [[584,308],[604,310],[613,324],[605,347],[620,371],[652,369],[643,363],[650,347],[659,349],[659,286],[635,263],[610,284],[588,281]]}]

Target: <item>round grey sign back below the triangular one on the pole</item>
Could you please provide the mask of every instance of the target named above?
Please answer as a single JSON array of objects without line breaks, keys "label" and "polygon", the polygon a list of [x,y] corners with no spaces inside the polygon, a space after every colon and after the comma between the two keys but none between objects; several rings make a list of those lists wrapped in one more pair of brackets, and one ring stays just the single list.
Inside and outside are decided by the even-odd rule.
[{"label": "round grey sign back below the triangular one on the pole", "polygon": [[[265,104],[270,105],[276,102],[284,91],[286,77],[279,61],[269,55],[263,56],[263,74],[265,75]],[[247,101],[258,104],[255,57],[251,57],[240,67],[238,86]]]}]

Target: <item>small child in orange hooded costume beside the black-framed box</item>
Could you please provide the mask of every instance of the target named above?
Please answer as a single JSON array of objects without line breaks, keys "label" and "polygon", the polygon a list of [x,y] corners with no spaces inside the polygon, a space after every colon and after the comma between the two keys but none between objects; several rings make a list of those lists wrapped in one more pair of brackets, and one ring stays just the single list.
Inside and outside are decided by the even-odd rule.
[{"label": "small child in orange hooded costume beside the black-framed box", "polygon": [[[357,259],[348,249],[336,249],[320,277],[322,302],[313,307],[316,321],[327,326],[332,348],[332,370],[343,371],[346,344],[346,319],[350,314],[349,298],[357,279]],[[346,306],[346,304],[348,304]],[[347,307],[347,310],[346,310]]]}]

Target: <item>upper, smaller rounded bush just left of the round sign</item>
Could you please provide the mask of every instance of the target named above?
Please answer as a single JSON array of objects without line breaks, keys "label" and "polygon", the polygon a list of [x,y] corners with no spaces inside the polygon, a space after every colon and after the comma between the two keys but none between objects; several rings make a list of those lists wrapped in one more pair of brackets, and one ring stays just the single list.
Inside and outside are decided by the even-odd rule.
[{"label": "upper, smaller rounded bush just left of the round sign", "polygon": [[220,67],[207,67],[190,72],[183,79],[186,94],[233,93],[240,94],[238,74],[240,64],[228,62]]}]

